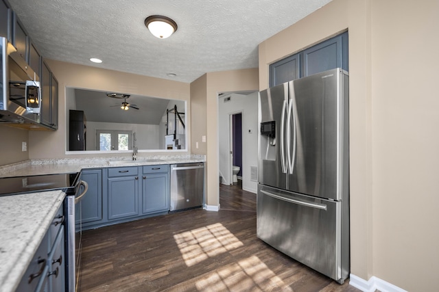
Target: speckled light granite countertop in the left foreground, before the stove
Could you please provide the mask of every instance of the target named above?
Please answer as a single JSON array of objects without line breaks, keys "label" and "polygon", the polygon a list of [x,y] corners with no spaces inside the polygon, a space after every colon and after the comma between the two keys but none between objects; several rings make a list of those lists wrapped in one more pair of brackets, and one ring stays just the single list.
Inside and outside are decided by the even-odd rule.
[{"label": "speckled light granite countertop in the left foreground, before the stove", "polygon": [[62,191],[0,197],[1,291],[15,291],[64,197]]}]

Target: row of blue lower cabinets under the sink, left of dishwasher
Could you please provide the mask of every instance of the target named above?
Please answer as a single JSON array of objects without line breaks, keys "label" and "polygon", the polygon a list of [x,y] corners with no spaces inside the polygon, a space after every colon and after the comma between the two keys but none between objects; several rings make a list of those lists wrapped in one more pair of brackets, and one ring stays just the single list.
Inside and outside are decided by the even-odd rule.
[{"label": "row of blue lower cabinets under the sink, left of dishwasher", "polygon": [[82,170],[88,191],[76,208],[82,230],[169,211],[169,165]]}]

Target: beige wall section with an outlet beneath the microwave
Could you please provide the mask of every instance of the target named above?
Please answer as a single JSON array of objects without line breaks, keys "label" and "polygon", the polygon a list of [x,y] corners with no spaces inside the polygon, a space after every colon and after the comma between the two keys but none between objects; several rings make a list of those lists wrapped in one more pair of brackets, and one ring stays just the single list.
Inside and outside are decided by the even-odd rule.
[{"label": "beige wall section with an outlet beneath the microwave", "polygon": [[[0,125],[0,165],[29,159],[29,135],[24,129]],[[21,151],[21,142],[27,143],[27,151]]]}]

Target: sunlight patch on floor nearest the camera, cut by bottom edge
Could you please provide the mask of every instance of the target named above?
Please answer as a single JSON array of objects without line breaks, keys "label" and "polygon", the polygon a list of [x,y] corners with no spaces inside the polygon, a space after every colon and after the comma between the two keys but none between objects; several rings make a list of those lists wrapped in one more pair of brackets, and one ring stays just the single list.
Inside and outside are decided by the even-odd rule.
[{"label": "sunlight patch on floor nearest the camera, cut by bottom edge", "polygon": [[226,265],[195,283],[198,291],[291,291],[257,256]]}]

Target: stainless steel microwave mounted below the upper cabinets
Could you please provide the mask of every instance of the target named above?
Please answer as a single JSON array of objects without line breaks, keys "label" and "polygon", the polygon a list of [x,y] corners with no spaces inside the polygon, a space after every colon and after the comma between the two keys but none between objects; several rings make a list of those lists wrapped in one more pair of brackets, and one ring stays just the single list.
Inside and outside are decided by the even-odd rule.
[{"label": "stainless steel microwave mounted below the upper cabinets", "polygon": [[0,37],[0,54],[0,122],[39,123],[40,78],[3,37]]}]

